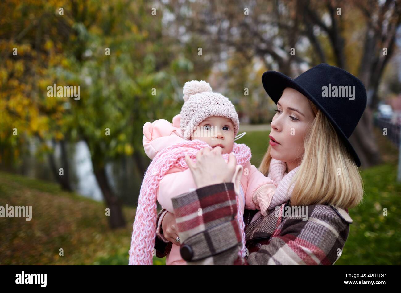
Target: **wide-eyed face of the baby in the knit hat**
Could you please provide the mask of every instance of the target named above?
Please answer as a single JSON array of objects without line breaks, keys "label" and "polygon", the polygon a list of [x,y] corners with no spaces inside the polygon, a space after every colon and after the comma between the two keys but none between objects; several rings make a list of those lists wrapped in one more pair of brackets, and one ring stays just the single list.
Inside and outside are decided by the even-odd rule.
[{"label": "wide-eyed face of the baby in the knit hat", "polygon": [[203,120],[191,135],[191,140],[205,141],[212,148],[220,146],[223,154],[229,154],[234,146],[234,124],[231,119],[211,116]]}]

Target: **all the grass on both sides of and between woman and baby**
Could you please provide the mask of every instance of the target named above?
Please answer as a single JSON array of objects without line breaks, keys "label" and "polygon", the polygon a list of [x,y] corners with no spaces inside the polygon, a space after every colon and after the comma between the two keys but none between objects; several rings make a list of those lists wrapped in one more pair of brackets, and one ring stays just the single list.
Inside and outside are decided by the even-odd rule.
[{"label": "all the grass on both sides of and between woman and baby", "polygon": [[[377,130],[375,130],[377,131]],[[239,139],[259,166],[269,131]],[[364,202],[350,210],[353,224],[336,265],[401,265],[401,184],[398,152],[377,131],[385,163],[361,171]],[[124,207],[125,228],[108,227],[103,203],[62,191],[57,184],[0,172],[0,206],[32,206],[32,220],[0,218],[1,265],[127,265],[135,210]],[[383,209],[387,208],[387,216]],[[63,249],[63,256],[59,255]],[[164,265],[165,258],[154,258]]]}]

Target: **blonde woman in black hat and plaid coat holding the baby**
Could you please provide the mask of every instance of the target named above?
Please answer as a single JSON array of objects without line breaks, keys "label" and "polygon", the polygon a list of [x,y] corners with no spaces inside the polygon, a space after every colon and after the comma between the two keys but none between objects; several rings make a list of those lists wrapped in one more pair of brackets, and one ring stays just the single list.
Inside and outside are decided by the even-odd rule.
[{"label": "blonde woman in black hat and plaid coat holding the baby", "polygon": [[266,216],[245,210],[245,256],[234,218],[235,158],[226,163],[217,147],[199,151],[196,164],[186,158],[197,189],[172,199],[174,214],[158,214],[158,257],[172,241],[190,265],[332,265],[340,257],[352,223],[348,209],[363,199],[360,160],[348,137],[365,110],[365,87],[327,64],[294,80],[267,71],[262,83],[277,113],[260,171],[278,186]]}]

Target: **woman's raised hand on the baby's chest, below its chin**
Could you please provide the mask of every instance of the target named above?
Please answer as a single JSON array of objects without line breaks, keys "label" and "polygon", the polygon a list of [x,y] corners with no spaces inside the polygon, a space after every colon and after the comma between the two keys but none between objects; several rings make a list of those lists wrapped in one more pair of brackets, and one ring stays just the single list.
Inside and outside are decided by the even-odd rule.
[{"label": "woman's raised hand on the baby's chest, below its chin", "polygon": [[237,159],[231,153],[228,163],[221,155],[221,147],[213,150],[204,148],[196,153],[196,163],[188,155],[185,155],[185,162],[191,170],[197,188],[208,185],[231,182],[235,173]]}]

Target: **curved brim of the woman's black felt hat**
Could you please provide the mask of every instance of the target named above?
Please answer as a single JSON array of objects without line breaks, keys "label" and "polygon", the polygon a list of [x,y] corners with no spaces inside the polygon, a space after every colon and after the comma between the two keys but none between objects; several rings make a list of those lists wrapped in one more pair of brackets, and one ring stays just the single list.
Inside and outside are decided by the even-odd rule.
[{"label": "curved brim of the woman's black felt hat", "polygon": [[359,157],[356,154],[354,148],[352,147],[350,141],[348,140],[348,137],[346,137],[344,132],[342,132],[342,130],[334,121],[334,119],[330,116],[330,114],[327,113],[327,111],[322,107],[322,105],[320,105],[320,103],[310,93],[308,93],[306,89],[298,85],[298,83],[296,83],[293,79],[291,79],[287,75],[277,71],[266,71],[265,73],[263,73],[262,84],[266,93],[269,95],[269,97],[273,100],[273,102],[276,105],[286,87],[291,87],[302,93],[302,95],[306,96],[308,99],[310,99],[316,105],[316,107],[318,107],[318,109],[322,111],[324,115],[326,115],[326,117],[332,123],[334,129],[336,129],[336,132],[338,133],[338,136],[340,137],[340,139],[342,139],[342,141],[344,141],[346,148],[349,150],[351,156],[354,158],[356,166],[360,167]]}]

